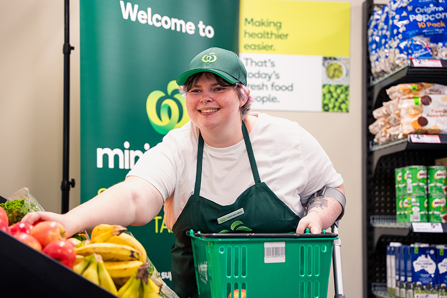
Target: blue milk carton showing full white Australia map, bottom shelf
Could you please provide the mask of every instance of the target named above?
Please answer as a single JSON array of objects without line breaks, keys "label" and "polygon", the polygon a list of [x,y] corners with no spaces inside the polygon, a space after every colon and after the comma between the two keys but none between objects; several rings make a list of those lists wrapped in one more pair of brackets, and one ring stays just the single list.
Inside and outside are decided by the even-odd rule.
[{"label": "blue milk carton showing full white Australia map, bottom shelf", "polygon": [[415,244],[410,248],[414,298],[438,298],[436,247]]}]

